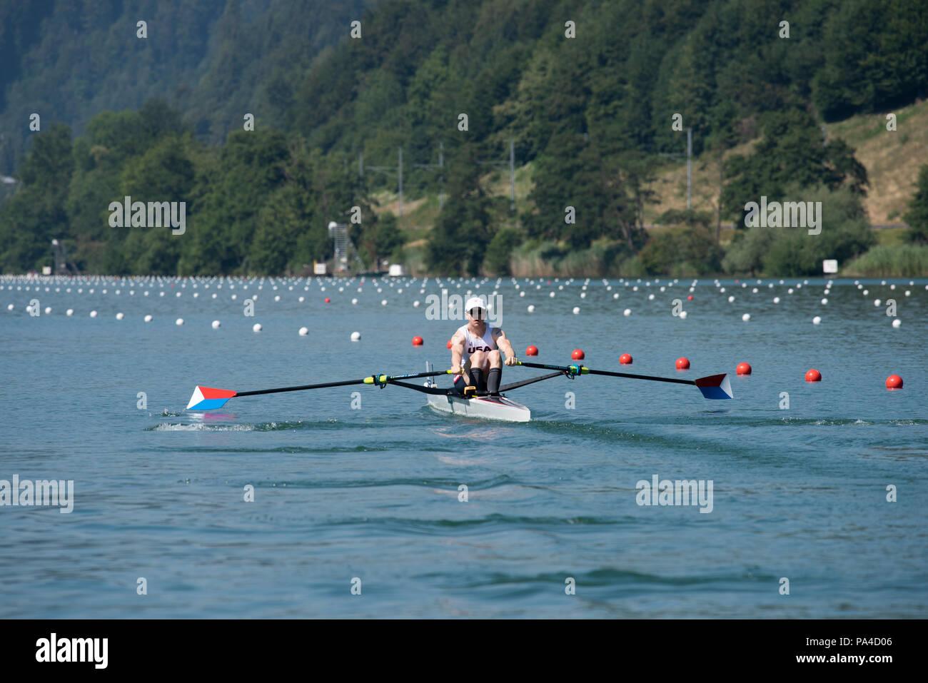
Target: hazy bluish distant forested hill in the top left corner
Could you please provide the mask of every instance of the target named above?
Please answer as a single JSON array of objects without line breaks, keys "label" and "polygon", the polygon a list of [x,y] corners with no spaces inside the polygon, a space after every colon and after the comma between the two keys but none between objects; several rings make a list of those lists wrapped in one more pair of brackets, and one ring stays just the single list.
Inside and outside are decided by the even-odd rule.
[{"label": "hazy bluish distant forested hill in the top left corner", "polygon": [[[313,59],[369,0],[19,0],[0,4],[0,173],[32,112],[82,135],[102,110],[162,98],[225,142],[246,111],[280,127]],[[139,38],[138,21],[146,22]]]}]

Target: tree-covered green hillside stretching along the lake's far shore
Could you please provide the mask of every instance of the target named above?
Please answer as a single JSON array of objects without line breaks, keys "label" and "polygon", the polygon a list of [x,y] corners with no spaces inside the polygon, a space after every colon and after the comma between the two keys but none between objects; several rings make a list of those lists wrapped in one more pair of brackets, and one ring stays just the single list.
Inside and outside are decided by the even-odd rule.
[{"label": "tree-covered green hillside stretching along the lake's far shore", "polygon": [[[47,112],[0,207],[5,271],[47,263],[57,237],[98,272],[298,272],[331,255],[326,225],[357,206],[367,264],[418,249],[434,273],[505,273],[516,251],[584,253],[604,274],[817,272],[821,253],[849,260],[875,241],[867,169],[820,124],[928,93],[921,0],[382,0],[357,12],[354,36],[352,4],[151,3],[147,41],[135,38],[138,12],[104,6],[89,23],[56,6],[37,26],[4,10],[2,54],[17,58],[3,125]],[[157,26],[177,24],[165,7],[196,19],[157,43]],[[51,66],[33,79],[33,63]],[[60,110],[45,104],[56,83]],[[682,235],[649,238],[654,168],[687,129],[694,155],[717,160],[721,200],[714,213],[664,216]],[[508,158],[510,140],[531,169],[515,211],[485,163]],[[439,145],[441,169],[417,166],[436,164]],[[358,173],[360,155],[395,165],[397,148],[406,199],[444,196],[429,226],[375,212],[396,179]],[[186,201],[185,234],[111,227],[110,201],[126,195]],[[828,240],[795,233],[780,257],[770,234],[722,245],[719,223],[743,227],[761,195],[822,201]],[[922,240],[928,226],[913,227]]]}]

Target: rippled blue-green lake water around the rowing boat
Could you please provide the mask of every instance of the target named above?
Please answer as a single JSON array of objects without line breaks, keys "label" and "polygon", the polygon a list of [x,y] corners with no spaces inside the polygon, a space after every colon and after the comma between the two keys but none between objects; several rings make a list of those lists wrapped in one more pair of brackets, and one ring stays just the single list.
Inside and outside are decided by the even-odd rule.
[{"label": "rippled blue-green lake water around the rowing boat", "polygon": [[[860,280],[864,295],[702,279],[692,301],[690,280],[585,282],[0,278],[0,480],[74,482],[69,514],[0,507],[0,617],[928,616],[925,280]],[[522,360],[535,344],[541,363],[581,348],[600,369],[728,372],[735,400],[581,376],[512,392],[524,424],[435,413],[394,386],[184,409],[197,384],[448,367],[462,323],[426,306],[443,287],[498,291]],[[711,511],[638,505],[655,475],[711,482]]]}]

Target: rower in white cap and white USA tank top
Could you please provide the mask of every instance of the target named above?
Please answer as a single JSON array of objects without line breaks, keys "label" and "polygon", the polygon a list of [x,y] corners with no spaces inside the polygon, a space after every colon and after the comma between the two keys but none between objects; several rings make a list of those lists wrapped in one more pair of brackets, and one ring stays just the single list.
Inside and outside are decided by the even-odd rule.
[{"label": "rower in white cap and white USA tank top", "polygon": [[506,354],[508,366],[516,365],[518,358],[506,333],[487,325],[486,305],[482,299],[470,297],[464,309],[468,324],[458,328],[451,338],[451,372],[455,376],[455,389],[462,396],[472,396],[474,391],[499,395],[499,380],[503,374],[500,349]]}]

